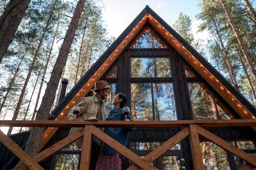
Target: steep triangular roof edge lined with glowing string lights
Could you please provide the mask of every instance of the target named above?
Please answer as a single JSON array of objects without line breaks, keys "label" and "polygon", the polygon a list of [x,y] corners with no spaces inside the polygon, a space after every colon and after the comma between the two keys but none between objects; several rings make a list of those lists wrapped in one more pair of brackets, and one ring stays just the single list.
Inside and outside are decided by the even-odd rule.
[{"label": "steep triangular roof edge lined with glowing string lights", "polygon": [[[241,118],[255,118],[256,109],[244,96],[234,88],[214,67],[212,67],[191,45],[189,45],[176,31],[159,17],[150,7],[146,6],[133,20],[124,32],[114,41],[105,53],[94,63],[80,81],[60,101],[50,119],[62,120],[68,114],[70,108],[76,105],[83,96],[93,88],[94,82],[101,79],[106,70],[114,63],[117,57],[129,45],[141,29],[151,25],[169,45],[175,50],[214,88],[219,95],[236,111]],[[256,128],[253,128],[256,130]],[[41,148],[56,132],[57,128],[49,128],[44,134]]]}]

